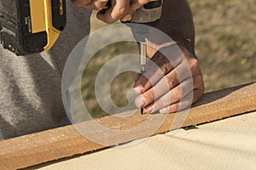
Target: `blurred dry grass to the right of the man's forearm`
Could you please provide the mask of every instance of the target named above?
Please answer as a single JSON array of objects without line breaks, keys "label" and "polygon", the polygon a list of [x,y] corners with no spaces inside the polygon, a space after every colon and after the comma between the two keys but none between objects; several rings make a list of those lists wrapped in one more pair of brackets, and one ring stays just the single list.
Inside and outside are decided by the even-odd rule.
[{"label": "blurred dry grass to the right of the man's forearm", "polygon": [[192,1],[206,91],[256,81],[256,2]]}]

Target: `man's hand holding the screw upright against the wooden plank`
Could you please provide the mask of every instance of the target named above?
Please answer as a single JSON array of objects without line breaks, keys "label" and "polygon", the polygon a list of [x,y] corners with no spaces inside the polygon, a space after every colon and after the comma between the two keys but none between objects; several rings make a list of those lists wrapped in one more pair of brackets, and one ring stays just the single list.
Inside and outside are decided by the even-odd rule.
[{"label": "man's hand holding the screw upright against the wooden plank", "polygon": [[[136,105],[144,108],[145,112],[172,113],[188,107],[201,98],[204,83],[198,60],[183,46],[179,48],[181,51],[177,50],[176,45],[163,48],[163,51],[166,50],[165,54],[169,55],[166,57],[160,52],[154,54],[152,61],[157,67],[149,63],[148,70],[135,78],[134,89],[140,94],[136,99]],[[189,83],[191,79],[193,82]],[[183,99],[191,93],[191,101]]]}]

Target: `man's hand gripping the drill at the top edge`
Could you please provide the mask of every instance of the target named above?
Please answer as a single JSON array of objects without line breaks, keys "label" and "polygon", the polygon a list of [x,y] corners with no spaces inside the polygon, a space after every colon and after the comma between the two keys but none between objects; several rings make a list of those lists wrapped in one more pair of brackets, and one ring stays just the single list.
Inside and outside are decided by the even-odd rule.
[{"label": "man's hand gripping the drill at the top edge", "polygon": [[[117,20],[127,21],[131,20],[131,14],[133,14],[137,8],[141,8],[149,0],[110,0],[111,7],[106,9],[106,12],[102,14],[99,12],[97,18],[108,24],[111,24]],[[102,10],[105,8],[108,0],[73,0],[73,4],[84,8],[90,8],[94,10]]]}]

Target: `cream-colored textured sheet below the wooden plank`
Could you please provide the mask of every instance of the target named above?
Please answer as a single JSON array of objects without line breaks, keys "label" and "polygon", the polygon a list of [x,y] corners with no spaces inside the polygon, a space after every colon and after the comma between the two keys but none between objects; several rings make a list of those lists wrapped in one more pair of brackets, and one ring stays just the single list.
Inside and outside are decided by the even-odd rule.
[{"label": "cream-colored textured sheet below the wooden plank", "polygon": [[251,112],[33,168],[253,170],[255,126],[256,112]]}]

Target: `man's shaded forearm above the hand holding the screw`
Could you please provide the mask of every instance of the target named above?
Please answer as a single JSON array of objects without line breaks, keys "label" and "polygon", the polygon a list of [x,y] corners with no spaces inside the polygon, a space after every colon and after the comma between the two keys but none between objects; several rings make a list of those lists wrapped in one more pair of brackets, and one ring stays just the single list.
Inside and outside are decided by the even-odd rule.
[{"label": "man's shaded forearm above the hand holding the screw", "polygon": [[186,0],[164,0],[161,19],[157,28],[175,42],[183,44],[195,55],[195,27]]}]

